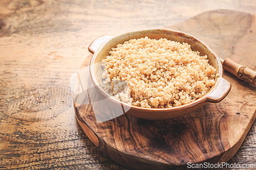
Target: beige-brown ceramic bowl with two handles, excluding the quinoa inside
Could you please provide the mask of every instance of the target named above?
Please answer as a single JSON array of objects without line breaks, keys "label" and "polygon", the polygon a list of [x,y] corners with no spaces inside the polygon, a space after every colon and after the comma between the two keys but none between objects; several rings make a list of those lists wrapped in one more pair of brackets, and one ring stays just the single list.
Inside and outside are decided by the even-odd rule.
[{"label": "beige-brown ceramic bowl with two handles, excluding the quinoa inside", "polygon": [[[126,103],[120,102],[110,96],[107,92],[101,88],[100,84],[102,83],[101,74],[102,67],[100,64],[97,64],[102,61],[106,56],[110,55],[109,52],[113,47],[116,47],[117,44],[123,43],[124,41],[130,39],[137,39],[141,37],[147,36],[151,39],[160,39],[166,38],[168,40],[178,41],[180,43],[186,42],[191,45],[191,49],[193,51],[199,51],[200,55],[207,55],[209,64],[214,66],[217,70],[216,73],[220,75],[220,77],[216,77],[215,85],[211,87],[206,95],[202,98],[191,102],[186,105],[173,107],[173,108],[141,108],[137,106],[128,105]],[[157,29],[157,30],[142,30],[136,32],[130,32],[126,34],[122,34],[116,37],[112,36],[103,36],[99,37],[92,42],[92,44],[88,47],[89,51],[93,54],[90,63],[90,75],[92,82],[94,83],[97,91],[100,95],[103,95],[104,98],[109,98],[110,105],[113,107],[120,105],[128,111],[125,114],[143,118],[143,119],[151,119],[151,120],[161,120],[161,119],[170,119],[177,118],[180,116],[184,116],[189,114],[198,108],[204,106],[208,103],[218,103],[221,102],[228,92],[231,89],[231,84],[222,78],[222,63],[219,57],[202,41],[193,37],[189,34],[185,34],[182,32],[165,30],[165,29]],[[125,110],[125,109],[124,109]]]}]

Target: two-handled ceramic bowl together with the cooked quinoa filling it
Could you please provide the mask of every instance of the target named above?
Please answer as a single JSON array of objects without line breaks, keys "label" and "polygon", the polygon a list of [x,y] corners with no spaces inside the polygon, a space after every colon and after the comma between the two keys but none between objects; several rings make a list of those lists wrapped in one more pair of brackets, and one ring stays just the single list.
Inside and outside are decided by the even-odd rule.
[{"label": "two-handled ceramic bowl together with the cooked quinoa filling it", "polygon": [[218,56],[186,33],[158,29],[103,36],[89,51],[97,91],[138,118],[180,117],[222,101],[231,88]]}]

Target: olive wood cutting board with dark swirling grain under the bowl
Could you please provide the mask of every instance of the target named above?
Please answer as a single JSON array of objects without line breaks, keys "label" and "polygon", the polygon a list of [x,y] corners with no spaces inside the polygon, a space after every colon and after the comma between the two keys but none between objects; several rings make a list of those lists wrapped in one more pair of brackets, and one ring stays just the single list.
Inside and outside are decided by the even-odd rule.
[{"label": "olive wood cutting board with dark swirling grain under the bowl", "polygon": [[[168,29],[182,31],[205,42],[220,58],[256,70],[255,15],[229,10],[199,14]],[[89,65],[91,55],[82,67]],[[83,77],[83,75],[80,75]],[[121,115],[97,123],[90,98],[74,102],[77,121],[91,141],[111,159],[136,169],[186,169],[187,163],[228,161],[240,148],[256,113],[256,86],[224,71],[232,85],[218,104],[206,104],[176,119],[145,120]],[[90,85],[90,79],[87,80]],[[99,109],[111,112],[111,106]],[[102,105],[102,106],[100,106]]]}]

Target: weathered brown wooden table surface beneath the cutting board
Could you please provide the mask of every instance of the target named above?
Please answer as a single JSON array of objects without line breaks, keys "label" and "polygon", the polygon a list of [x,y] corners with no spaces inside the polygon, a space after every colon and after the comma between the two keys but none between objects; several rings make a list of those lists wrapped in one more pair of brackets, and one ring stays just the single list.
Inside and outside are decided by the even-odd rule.
[{"label": "weathered brown wooden table surface beneath the cutting board", "polygon": [[[0,1],[0,169],[129,169],[76,122],[70,77],[102,35],[162,28],[253,1]],[[228,163],[256,162],[256,124]],[[232,169],[232,168],[229,168]]]}]

